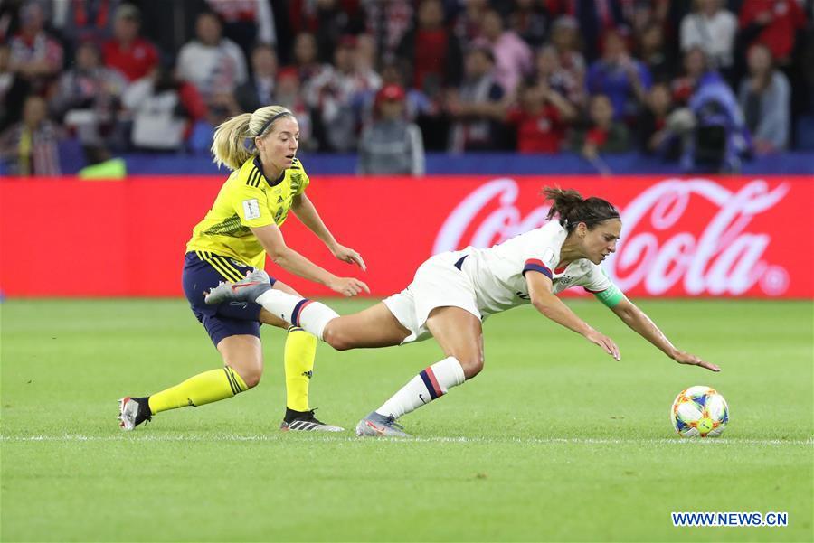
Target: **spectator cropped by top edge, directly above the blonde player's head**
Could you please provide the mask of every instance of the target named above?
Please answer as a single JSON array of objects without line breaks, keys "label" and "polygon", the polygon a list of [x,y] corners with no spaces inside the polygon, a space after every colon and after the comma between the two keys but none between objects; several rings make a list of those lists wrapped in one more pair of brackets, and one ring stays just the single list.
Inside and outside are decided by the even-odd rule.
[{"label": "spectator cropped by top edge, directly above the blonde player's head", "polygon": [[206,0],[206,5],[221,19],[223,36],[237,43],[244,57],[257,43],[277,43],[268,0]]}]

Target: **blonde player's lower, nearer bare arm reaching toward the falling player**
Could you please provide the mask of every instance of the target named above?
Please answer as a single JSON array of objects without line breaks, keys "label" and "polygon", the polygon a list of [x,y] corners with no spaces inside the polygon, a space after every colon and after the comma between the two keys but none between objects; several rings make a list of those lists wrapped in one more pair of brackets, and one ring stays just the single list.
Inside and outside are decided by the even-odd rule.
[{"label": "blonde player's lower, nearer bare arm reaching toward the falling player", "polygon": [[251,232],[260,240],[260,245],[266,249],[271,260],[295,276],[320,283],[345,296],[357,295],[363,290],[370,293],[370,288],[368,288],[363,281],[355,277],[337,277],[329,271],[318,267],[294,249],[289,248],[277,225],[270,224],[267,226],[252,227]]}]

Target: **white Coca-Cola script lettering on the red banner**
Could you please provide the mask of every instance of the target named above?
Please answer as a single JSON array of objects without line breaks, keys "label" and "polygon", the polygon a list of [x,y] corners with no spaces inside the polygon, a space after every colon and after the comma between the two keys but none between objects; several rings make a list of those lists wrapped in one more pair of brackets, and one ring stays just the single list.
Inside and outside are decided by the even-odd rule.
[{"label": "white Coca-Cola script lettering on the red banner", "polygon": [[[770,188],[760,179],[735,191],[703,178],[655,183],[620,211],[623,242],[605,269],[622,290],[643,286],[651,295],[679,283],[688,295],[741,295],[756,284],[767,295],[782,295],[789,287],[788,272],[764,260],[771,235],[748,228],[789,190],[788,183]],[[444,221],[433,254],[467,245],[489,247],[542,226],[548,206],[524,217],[516,205],[519,193],[510,178],[479,186]],[[711,219],[696,219],[693,210],[702,205],[712,207]],[[464,239],[467,231],[470,239]]]}]

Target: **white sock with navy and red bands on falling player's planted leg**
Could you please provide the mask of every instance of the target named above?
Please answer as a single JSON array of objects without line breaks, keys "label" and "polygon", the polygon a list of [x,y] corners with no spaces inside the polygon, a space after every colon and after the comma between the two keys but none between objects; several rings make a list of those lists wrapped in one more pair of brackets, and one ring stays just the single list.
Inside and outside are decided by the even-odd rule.
[{"label": "white sock with navy and red bands on falling player's planted leg", "polygon": [[402,417],[411,411],[440,398],[448,389],[457,387],[466,380],[460,362],[453,356],[435,362],[426,370],[410,379],[401,390],[384,402],[376,413],[393,418]]}]

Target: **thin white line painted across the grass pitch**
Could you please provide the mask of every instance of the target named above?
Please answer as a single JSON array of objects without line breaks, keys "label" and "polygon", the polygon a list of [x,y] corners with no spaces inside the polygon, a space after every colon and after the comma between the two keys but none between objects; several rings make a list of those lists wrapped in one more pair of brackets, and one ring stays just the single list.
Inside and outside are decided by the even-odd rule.
[{"label": "thin white line painted across the grass pitch", "polygon": [[[355,436],[315,435],[315,441],[325,443],[355,443],[360,438]],[[119,435],[0,435],[0,442],[279,442],[285,443],[284,435],[239,435],[239,434],[213,434],[213,435],[155,435],[147,433],[119,434]],[[413,437],[412,439],[382,439],[383,443],[461,443],[484,445],[684,445],[708,444],[719,445],[814,445],[814,437],[809,439],[741,439],[718,437],[711,439],[683,439],[673,438],[647,439],[626,437]],[[302,443],[302,442],[299,442]],[[690,445],[692,446],[692,445]]]}]

